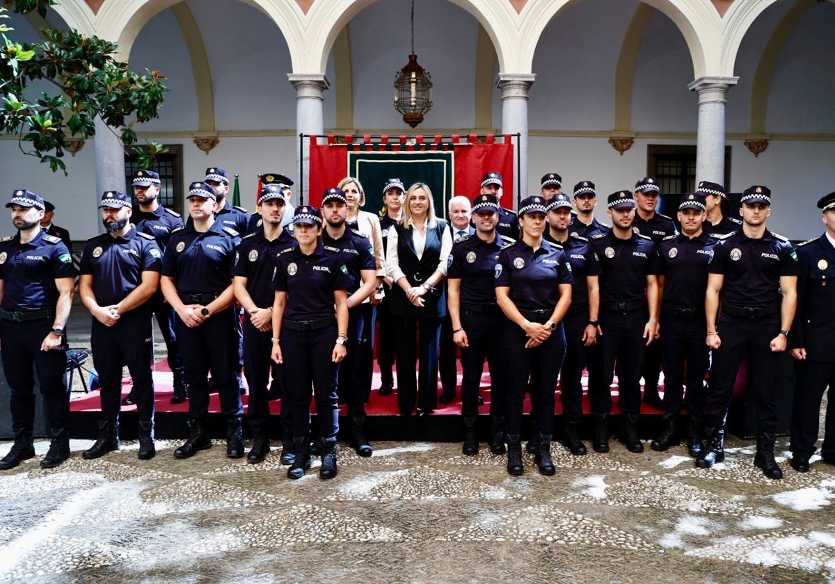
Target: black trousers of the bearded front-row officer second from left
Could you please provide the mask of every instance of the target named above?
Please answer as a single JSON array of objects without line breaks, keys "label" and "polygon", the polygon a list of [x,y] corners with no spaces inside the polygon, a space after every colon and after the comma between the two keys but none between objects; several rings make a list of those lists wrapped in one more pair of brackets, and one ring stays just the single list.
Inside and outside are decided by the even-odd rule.
[{"label": "black trousers of the bearded front-row officer second from left", "polygon": [[154,417],[154,344],[151,342],[151,312],[140,306],[119,317],[113,326],[93,318],[90,345],[101,385],[101,419],[119,418],[122,402],[122,367],[128,366],[130,390],[140,421]]}]

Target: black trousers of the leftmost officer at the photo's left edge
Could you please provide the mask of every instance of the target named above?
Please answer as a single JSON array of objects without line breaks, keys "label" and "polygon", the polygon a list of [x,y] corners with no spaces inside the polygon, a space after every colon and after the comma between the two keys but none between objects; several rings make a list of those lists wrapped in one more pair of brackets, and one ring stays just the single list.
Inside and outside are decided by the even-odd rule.
[{"label": "black trousers of the leftmost officer at the photo's left edge", "polygon": [[47,426],[67,427],[69,390],[67,351],[42,351],[41,343],[52,329],[52,319],[13,322],[0,320],[0,355],[12,396],[12,430],[32,430],[35,424],[35,378],[47,410]]}]

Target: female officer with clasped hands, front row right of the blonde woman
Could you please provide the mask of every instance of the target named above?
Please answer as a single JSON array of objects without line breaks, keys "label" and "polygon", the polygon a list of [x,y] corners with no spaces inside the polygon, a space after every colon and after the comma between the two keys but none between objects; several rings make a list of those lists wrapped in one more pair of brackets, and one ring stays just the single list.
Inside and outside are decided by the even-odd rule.
[{"label": "female officer with clasped hands, front row right of the blonde woman", "polygon": [[505,427],[508,432],[508,472],[524,473],[522,403],[528,380],[539,451],[534,461],[543,475],[554,475],[551,437],[554,433],[554,394],[565,354],[563,317],[571,303],[571,266],[558,244],[542,239],[547,229],[545,199],[528,197],[519,204],[522,238],[498,254],[496,300],[512,322],[504,327],[502,347],[508,362]]}]

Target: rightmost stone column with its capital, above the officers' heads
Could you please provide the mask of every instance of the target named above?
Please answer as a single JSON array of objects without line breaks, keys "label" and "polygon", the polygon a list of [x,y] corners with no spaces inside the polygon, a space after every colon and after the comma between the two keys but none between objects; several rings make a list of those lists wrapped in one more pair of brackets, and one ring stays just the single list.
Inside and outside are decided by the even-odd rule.
[{"label": "rightmost stone column with its capital, above the officers' heads", "polygon": [[687,86],[699,93],[696,138],[696,184],[701,180],[725,185],[725,94],[738,77],[701,77]]}]

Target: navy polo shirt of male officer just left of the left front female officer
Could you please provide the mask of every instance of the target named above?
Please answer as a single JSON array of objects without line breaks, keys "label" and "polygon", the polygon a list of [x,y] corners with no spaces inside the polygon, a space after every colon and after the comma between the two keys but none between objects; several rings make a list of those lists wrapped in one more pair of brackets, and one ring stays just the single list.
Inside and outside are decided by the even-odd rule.
[{"label": "navy polo shirt of male officer just left of the left front female officer", "polygon": [[286,229],[281,229],[281,234],[272,241],[264,237],[263,231],[240,240],[232,275],[246,278],[246,291],[256,306],[272,306],[276,298],[272,289],[276,259],[282,251],[295,245],[296,239]]}]

